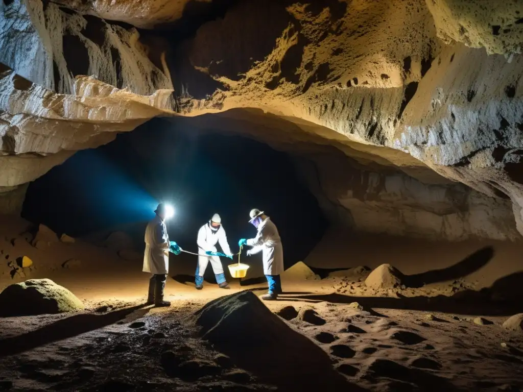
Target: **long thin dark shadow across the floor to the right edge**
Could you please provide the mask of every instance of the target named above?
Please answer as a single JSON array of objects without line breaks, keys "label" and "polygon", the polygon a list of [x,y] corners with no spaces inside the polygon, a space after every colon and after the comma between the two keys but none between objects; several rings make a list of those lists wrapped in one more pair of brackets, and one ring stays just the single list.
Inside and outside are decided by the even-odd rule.
[{"label": "long thin dark shadow across the floor to the right edge", "polygon": [[[469,296],[471,299],[462,299]],[[473,299],[475,298],[475,299]],[[459,299],[455,296],[438,295],[434,297],[417,296],[391,298],[391,297],[357,297],[343,294],[312,294],[296,295],[287,297],[278,296],[280,301],[306,301],[306,302],[330,302],[334,304],[359,303],[366,309],[401,309],[418,310],[420,312],[440,312],[448,314],[470,315],[470,316],[511,316],[521,311],[520,303],[494,303],[482,297],[482,292],[464,291],[459,293]]]}]

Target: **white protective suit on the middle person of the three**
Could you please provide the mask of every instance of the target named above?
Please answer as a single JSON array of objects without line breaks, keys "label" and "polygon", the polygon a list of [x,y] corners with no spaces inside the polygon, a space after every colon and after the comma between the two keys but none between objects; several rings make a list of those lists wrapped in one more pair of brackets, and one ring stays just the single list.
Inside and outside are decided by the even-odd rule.
[{"label": "white protective suit on the middle person of the three", "polygon": [[[227,242],[227,236],[225,235],[225,229],[220,225],[218,230],[212,230],[209,223],[204,224],[198,230],[198,253],[200,255],[205,252],[215,252],[216,244],[219,243],[226,255],[231,254],[231,248]],[[207,264],[211,262],[212,270],[214,274],[218,275],[223,273],[222,262],[218,256],[198,256],[199,270],[198,274],[203,276],[207,268]]]}]

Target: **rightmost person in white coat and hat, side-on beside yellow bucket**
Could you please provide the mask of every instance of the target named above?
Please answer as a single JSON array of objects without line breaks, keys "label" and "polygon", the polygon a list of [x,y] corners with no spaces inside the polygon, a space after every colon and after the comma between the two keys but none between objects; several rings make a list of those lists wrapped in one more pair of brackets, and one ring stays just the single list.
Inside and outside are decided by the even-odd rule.
[{"label": "rightmost person in white coat and hat, side-on beside yellow bucket", "polygon": [[242,238],[238,242],[238,246],[252,247],[247,250],[247,256],[263,251],[263,269],[269,283],[269,292],[261,296],[261,299],[276,299],[278,294],[282,293],[280,274],[283,272],[283,247],[281,238],[276,225],[263,211],[257,208],[252,209],[249,216],[251,217],[249,223],[256,227],[258,233],[255,238]]}]

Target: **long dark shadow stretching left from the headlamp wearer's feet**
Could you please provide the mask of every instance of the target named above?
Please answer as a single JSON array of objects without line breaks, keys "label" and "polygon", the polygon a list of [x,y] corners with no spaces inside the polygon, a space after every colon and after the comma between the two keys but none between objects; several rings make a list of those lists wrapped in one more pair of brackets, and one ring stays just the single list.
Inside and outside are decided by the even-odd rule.
[{"label": "long dark shadow stretching left from the headlamp wearer's feet", "polygon": [[0,357],[19,354],[48,343],[107,327],[145,306],[145,304],[136,305],[104,315],[79,314],[55,321],[35,331],[0,340]]}]

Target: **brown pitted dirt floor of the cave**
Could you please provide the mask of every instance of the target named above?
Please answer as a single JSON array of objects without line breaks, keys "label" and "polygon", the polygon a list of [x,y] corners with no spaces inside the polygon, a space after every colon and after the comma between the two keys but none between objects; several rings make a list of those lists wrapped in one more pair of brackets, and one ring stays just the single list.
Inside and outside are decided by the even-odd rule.
[{"label": "brown pitted dirt floor of the cave", "polygon": [[[278,301],[262,303],[255,296],[266,283],[197,291],[170,276],[172,306],[154,308],[143,305],[148,276],[138,261],[81,241],[42,250],[17,238],[0,238],[4,255],[28,255],[35,266],[27,276],[3,273],[0,289],[49,278],[87,308],[0,318],[0,391],[523,390],[523,335],[502,327],[520,303],[460,302],[473,286],[466,279],[380,292],[365,286],[369,271],[297,274],[283,279]],[[71,258],[82,263],[61,267]],[[223,319],[233,321],[218,313],[215,326],[229,340],[203,337],[197,312],[231,295],[239,302]]]}]

